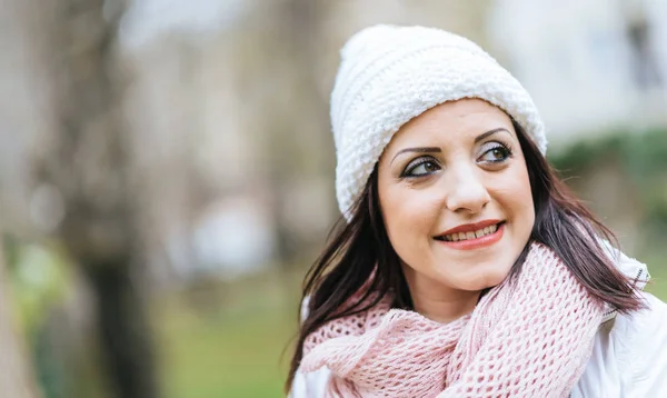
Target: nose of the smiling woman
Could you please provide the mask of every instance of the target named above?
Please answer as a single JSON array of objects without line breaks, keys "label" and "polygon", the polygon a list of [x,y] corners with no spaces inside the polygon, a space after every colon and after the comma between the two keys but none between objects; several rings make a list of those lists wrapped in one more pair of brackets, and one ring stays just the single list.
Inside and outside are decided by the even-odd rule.
[{"label": "nose of the smiling woman", "polygon": [[469,167],[450,168],[447,180],[447,208],[455,212],[477,213],[491,201],[481,177]]}]

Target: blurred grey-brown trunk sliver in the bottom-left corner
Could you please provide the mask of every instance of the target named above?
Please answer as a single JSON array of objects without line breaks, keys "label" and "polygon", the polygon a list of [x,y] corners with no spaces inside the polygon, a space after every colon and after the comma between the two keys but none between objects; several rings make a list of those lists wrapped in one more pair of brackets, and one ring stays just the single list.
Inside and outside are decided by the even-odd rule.
[{"label": "blurred grey-brown trunk sliver in the bottom-left corner", "polygon": [[[0,256],[1,257],[1,256]],[[36,398],[38,389],[28,364],[24,342],[19,338],[12,314],[10,293],[0,258],[0,397]]]}]

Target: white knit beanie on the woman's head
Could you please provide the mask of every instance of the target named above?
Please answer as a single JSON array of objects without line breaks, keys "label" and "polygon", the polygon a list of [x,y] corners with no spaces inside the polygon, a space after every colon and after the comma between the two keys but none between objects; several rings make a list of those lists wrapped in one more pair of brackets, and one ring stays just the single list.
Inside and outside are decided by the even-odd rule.
[{"label": "white knit beanie on the woman's head", "polygon": [[336,196],[349,221],[398,129],[446,101],[480,98],[507,112],[546,153],[541,119],[521,84],[479,46],[424,27],[374,26],[342,47],[331,92]]}]

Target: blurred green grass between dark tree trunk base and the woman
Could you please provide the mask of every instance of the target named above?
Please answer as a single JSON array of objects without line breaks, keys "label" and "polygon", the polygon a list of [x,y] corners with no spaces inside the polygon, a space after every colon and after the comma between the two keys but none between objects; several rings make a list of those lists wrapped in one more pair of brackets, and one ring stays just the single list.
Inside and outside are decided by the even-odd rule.
[{"label": "blurred green grass between dark tree trunk base and the woman", "polygon": [[[168,398],[283,397],[295,306],[265,289],[235,309],[198,312],[182,298],[160,304],[162,386]],[[263,290],[263,291],[262,291]],[[239,297],[235,298],[238,299]],[[259,300],[261,301],[261,300]]]}]

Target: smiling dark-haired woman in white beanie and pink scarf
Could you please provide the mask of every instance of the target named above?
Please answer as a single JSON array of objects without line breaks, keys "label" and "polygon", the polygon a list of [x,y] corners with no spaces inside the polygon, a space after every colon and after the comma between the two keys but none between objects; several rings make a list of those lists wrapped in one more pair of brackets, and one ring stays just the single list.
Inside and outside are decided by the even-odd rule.
[{"label": "smiling dark-haired woman in white beanie and pink scarf", "polygon": [[300,397],[659,397],[667,307],[548,166],[475,43],[376,26],[331,94],[345,221],[309,271]]}]

